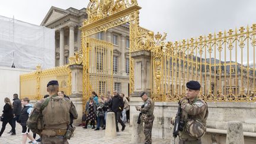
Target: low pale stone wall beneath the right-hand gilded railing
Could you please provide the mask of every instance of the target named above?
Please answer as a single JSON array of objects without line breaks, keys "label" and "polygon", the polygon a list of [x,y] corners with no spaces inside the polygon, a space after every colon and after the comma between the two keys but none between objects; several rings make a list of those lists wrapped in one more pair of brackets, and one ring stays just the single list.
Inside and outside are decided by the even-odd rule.
[{"label": "low pale stone wall beneath the right-hand gilded railing", "polygon": [[[135,105],[141,102],[130,102],[130,117],[139,113]],[[242,121],[245,143],[256,143],[256,103],[207,103],[209,117],[207,119],[207,133],[202,138],[203,143],[226,142],[226,128],[228,121]],[[171,117],[177,113],[177,103],[155,103],[155,120],[153,123],[152,137],[172,139]],[[132,120],[130,121],[132,123]]]}]

